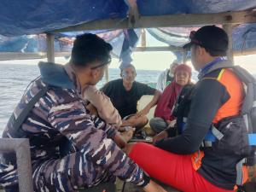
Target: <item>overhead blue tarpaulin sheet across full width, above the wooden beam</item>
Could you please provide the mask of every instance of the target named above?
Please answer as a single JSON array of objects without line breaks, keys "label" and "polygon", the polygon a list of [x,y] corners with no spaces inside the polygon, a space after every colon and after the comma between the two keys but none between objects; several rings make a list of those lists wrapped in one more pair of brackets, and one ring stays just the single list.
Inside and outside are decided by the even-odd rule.
[{"label": "overhead blue tarpaulin sheet across full width, above the wooden beam", "polygon": [[[125,19],[136,0],[1,0],[0,34],[19,36],[91,20]],[[207,14],[256,8],[255,0],[137,0],[140,15]]]}]

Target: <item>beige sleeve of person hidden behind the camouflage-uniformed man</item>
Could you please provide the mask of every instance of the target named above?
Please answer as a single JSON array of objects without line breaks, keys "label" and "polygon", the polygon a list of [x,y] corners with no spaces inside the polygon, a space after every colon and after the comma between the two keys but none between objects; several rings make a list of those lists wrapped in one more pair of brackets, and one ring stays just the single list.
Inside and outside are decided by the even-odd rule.
[{"label": "beige sleeve of person hidden behind the camouflage-uniformed man", "polygon": [[97,109],[99,116],[108,124],[118,127],[122,124],[119,112],[113,107],[109,97],[102,91],[97,90],[95,86],[88,86],[84,90],[84,99],[88,100]]}]

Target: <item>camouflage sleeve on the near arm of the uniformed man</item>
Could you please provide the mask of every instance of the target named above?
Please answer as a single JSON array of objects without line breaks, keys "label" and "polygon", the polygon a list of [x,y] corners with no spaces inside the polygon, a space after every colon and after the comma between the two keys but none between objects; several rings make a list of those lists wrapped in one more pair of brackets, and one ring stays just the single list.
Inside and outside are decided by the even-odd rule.
[{"label": "camouflage sleeve on the near arm of the uniformed man", "polygon": [[[72,94],[69,94],[72,96]],[[86,113],[81,99],[54,103],[49,110],[49,123],[67,137],[79,151],[88,154],[96,165],[122,180],[146,185],[149,177],[113,142],[112,126]],[[108,135],[108,137],[107,137]],[[85,160],[85,159],[84,159]]]}]

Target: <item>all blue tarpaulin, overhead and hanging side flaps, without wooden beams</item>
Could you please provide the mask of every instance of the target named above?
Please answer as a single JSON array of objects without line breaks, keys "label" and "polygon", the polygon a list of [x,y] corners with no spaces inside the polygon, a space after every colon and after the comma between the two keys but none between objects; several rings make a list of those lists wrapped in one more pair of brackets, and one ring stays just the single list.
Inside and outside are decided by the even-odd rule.
[{"label": "all blue tarpaulin, overhead and hanging side flaps, without wooden beams", "polygon": [[[142,16],[211,14],[256,8],[256,0],[2,0],[0,2],[0,51],[44,51],[44,36],[38,34],[93,20],[127,18],[129,6],[137,2]],[[182,46],[191,28],[152,28],[148,32],[166,44]],[[140,30],[93,31],[113,44],[114,55],[129,61]],[[61,40],[78,32],[55,34],[55,50],[69,50],[72,45]],[[256,48],[256,24],[236,26],[233,30],[235,50]]]}]

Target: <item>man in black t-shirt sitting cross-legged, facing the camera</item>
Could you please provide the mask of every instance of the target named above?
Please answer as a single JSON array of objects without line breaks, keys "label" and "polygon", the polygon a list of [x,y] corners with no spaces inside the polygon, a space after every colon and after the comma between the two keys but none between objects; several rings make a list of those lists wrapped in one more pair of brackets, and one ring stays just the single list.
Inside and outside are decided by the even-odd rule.
[{"label": "man in black t-shirt sitting cross-legged, facing the camera", "polygon": [[[103,86],[102,91],[109,96],[113,106],[119,111],[123,126],[141,128],[148,123],[146,114],[158,102],[160,91],[135,81],[137,73],[131,64],[125,65],[120,75],[122,79],[108,82]],[[143,95],[154,95],[154,97],[142,111],[137,113],[137,101]]]}]

